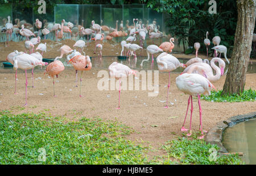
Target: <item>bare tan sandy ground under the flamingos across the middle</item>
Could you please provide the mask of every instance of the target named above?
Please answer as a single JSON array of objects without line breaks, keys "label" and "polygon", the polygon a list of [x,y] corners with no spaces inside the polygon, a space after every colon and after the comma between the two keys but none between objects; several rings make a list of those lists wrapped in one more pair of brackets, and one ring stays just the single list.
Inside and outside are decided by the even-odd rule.
[{"label": "bare tan sandy ground under the flamingos across the middle", "polygon": [[[18,72],[18,95],[14,95],[15,74],[14,70],[0,74],[0,109],[12,110],[14,113],[22,112],[46,112],[53,116],[66,116],[69,119],[101,118],[104,120],[118,120],[134,129],[127,136],[133,141],[148,141],[156,152],[151,156],[164,154],[158,150],[160,145],[168,140],[182,136],[180,132],[187,109],[188,95],[179,91],[175,84],[175,78],[179,75],[171,74],[171,87],[169,100],[174,104],[164,108],[166,100],[168,73],[159,73],[159,94],[157,97],[148,97],[148,91],[121,91],[121,109],[118,106],[118,90],[100,91],[97,83],[98,69],[86,71],[82,77],[82,95],[79,97],[79,87],[75,85],[75,70],[67,68],[62,72],[55,83],[57,97],[53,97],[52,78],[43,77],[43,70],[36,70],[34,74],[35,87],[32,88],[31,70],[28,72],[28,106],[23,107],[25,98],[25,74],[23,70]],[[80,72],[79,72],[80,76]],[[40,79],[42,78],[42,79]],[[256,89],[256,74],[246,75],[245,89]],[[214,86],[218,90],[224,85],[225,76]],[[40,95],[41,94],[41,95]],[[43,95],[42,95],[43,94]],[[176,100],[176,101],[175,101]],[[242,103],[214,103],[201,100],[203,108],[203,127],[209,130],[220,120],[225,120],[234,115],[246,114],[255,111],[255,102]],[[193,99],[193,121],[194,132],[199,128],[199,106],[197,99]],[[189,119],[189,117],[188,117]],[[189,128],[187,121],[186,128]]]}]

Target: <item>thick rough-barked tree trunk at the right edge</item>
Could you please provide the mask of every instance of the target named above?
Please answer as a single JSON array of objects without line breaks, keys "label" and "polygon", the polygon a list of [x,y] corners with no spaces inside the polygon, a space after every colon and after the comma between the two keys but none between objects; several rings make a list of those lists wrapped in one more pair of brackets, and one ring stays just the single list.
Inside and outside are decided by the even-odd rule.
[{"label": "thick rough-barked tree trunk at the right edge", "polygon": [[237,0],[237,12],[234,48],[223,87],[223,95],[240,94],[245,86],[255,25],[256,0]]}]

